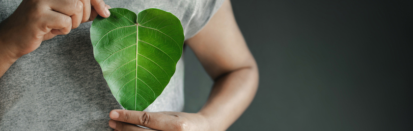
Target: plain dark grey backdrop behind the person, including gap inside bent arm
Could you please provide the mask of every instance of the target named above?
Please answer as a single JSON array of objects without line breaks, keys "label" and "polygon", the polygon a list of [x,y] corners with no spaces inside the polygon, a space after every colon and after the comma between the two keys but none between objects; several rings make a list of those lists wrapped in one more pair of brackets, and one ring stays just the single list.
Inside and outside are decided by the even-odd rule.
[{"label": "plain dark grey backdrop behind the person, including gap inside bent arm", "polygon": [[[260,69],[229,131],[413,131],[411,0],[233,0]],[[185,111],[212,80],[185,52]]]}]

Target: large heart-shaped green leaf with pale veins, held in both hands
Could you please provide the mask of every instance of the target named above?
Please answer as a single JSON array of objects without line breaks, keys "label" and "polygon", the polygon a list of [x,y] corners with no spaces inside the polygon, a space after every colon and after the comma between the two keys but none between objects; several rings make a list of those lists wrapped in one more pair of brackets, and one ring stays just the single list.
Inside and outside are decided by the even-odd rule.
[{"label": "large heart-shaped green leaf with pale veins, held in both hands", "polygon": [[129,110],[146,109],[162,93],[182,55],[184,32],[178,18],[160,9],[136,15],[110,9],[90,27],[96,61],[116,100]]}]

